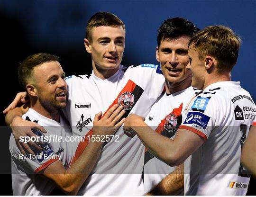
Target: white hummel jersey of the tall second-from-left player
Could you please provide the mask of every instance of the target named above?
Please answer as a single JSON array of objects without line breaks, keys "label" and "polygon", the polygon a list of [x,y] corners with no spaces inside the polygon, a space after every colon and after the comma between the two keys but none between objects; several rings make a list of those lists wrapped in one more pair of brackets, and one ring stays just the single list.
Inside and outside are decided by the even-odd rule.
[{"label": "white hummel jersey of the tall second-from-left player", "polygon": [[[64,114],[74,136],[88,134],[95,114],[106,112],[114,104],[123,105],[128,116],[146,116],[164,89],[165,78],[159,66],[142,64],[123,67],[106,80],[91,75],[70,76],[68,103]],[[91,132],[89,132],[91,134]],[[137,136],[130,138],[120,127],[104,144],[101,155],[78,195],[140,195],[144,193],[142,171],[144,146]],[[117,142],[118,141],[118,142]],[[76,157],[86,146],[80,143]]]}]

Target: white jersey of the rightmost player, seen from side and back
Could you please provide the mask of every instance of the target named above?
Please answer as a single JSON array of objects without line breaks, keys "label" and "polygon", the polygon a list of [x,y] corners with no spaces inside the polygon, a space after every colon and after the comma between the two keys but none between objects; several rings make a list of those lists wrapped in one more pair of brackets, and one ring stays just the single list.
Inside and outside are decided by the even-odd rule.
[{"label": "white jersey of the rightmost player, seen from side and back", "polygon": [[239,82],[211,84],[188,104],[180,128],[204,143],[184,163],[186,195],[246,195],[250,178],[240,156],[255,116],[256,106]]}]

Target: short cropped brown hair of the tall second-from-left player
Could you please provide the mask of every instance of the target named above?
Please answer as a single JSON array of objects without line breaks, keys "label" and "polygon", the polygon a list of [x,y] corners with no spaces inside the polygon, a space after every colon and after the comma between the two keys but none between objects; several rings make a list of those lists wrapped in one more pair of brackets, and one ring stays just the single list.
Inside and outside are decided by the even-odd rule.
[{"label": "short cropped brown hair of the tall second-from-left player", "polygon": [[85,37],[88,40],[91,40],[91,29],[93,27],[100,26],[109,26],[109,27],[123,27],[125,30],[125,25],[121,19],[119,19],[116,15],[110,12],[97,12],[94,14],[88,21],[86,26],[86,35]]}]

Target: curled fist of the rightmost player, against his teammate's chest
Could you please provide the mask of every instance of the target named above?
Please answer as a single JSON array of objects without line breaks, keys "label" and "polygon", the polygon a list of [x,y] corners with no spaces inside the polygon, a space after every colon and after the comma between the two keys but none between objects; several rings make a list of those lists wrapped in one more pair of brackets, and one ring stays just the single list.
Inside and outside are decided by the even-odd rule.
[{"label": "curled fist of the rightmost player, against his teammate's chest", "polygon": [[141,122],[144,122],[145,118],[143,116],[138,116],[137,114],[130,114],[124,122],[124,134],[128,137],[133,137],[136,135],[132,126],[140,126]]}]

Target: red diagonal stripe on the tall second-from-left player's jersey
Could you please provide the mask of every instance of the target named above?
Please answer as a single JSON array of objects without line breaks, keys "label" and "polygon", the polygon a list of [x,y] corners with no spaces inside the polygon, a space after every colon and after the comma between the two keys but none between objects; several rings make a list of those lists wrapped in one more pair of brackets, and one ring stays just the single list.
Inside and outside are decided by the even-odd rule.
[{"label": "red diagonal stripe on the tall second-from-left player's jersey", "polygon": [[[124,92],[133,92],[133,90],[136,87],[136,83],[128,80],[127,84],[125,85],[125,87],[123,88],[123,90],[120,91],[119,95],[117,96],[117,98],[113,101],[113,103],[110,105],[110,107],[107,109],[107,111],[105,111],[105,113],[101,116],[104,117],[106,115],[106,113],[108,112],[108,110],[113,107],[115,104],[118,104],[118,99],[120,97],[121,94],[123,94]],[[87,144],[89,143],[88,141],[88,136],[93,134],[93,128],[85,135],[85,139],[84,141],[81,141],[75,151],[75,155],[73,156],[72,162],[71,164],[73,164],[74,161],[76,161],[78,159],[78,157],[80,157],[80,155],[82,154],[83,150],[86,148]]]}]

